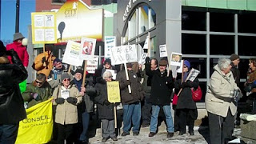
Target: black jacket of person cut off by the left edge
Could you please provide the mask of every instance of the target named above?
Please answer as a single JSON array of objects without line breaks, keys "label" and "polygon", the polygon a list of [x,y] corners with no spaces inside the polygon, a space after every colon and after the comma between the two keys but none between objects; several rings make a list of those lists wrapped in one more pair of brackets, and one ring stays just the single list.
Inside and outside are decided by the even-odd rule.
[{"label": "black jacket of person cut off by the left edge", "polygon": [[18,124],[26,118],[26,110],[18,83],[26,80],[27,71],[14,54],[14,64],[0,63],[0,125]]}]

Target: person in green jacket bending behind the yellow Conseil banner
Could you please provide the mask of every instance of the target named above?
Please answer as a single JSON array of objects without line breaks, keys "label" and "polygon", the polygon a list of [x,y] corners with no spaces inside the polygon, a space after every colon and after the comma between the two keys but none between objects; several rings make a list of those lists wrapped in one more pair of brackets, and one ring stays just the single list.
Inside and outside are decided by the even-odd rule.
[{"label": "person in green jacket bending behind the yellow Conseil banner", "polygon": [[51,96],[52,88],[46,82],[45,74],[37,74],[36,80],[26,86],[26,91],[22,93],[24,101],[28,102],[28,108],[48,100]]}]

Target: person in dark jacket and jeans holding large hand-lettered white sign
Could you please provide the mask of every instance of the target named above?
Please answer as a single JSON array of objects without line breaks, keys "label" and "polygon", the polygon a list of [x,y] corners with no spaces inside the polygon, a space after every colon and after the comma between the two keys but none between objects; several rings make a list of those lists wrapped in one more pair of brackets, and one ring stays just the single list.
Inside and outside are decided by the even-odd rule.
[{"label": "person in dark jacket and jeans holding large hand-lettered white sign", "polygon": [[[132,70],[132,63],[127,63],[127,73],[129,80],[126,80],[125,70],[122,70],[117,74],[123,106],[122,136],[130,134],[131,126],[133,126],[134,135],[137,136],[139,134],[141,122],[141,101],[143,99],[142,86],[137,74]],[[131,87],[131,93],[129,93],[128,85]]]}]

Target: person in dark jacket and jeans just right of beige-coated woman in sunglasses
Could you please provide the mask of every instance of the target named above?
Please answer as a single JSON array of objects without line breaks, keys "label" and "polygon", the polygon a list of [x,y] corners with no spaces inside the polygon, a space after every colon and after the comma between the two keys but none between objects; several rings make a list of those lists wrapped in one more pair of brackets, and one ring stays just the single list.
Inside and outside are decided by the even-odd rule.
[{"label": "person in dark jacket and jeans just right of beige-coated woman in sunglasses", "polygon": [[[74,85],[78,88],[82,95],[82,102],[78,104],[78,126],[76,135],[78,137],[78,143],[89,143],[87,138],[87,130],[90,122],[90,113],[94,110],[94,102],[91,100],[96,94],[92,78],[86,78],[85,86],[82,86],[83,70],[82,67],[78,67],[74,72],[74,80],[70,82],[70,85]],[[89,80],[88,80],[89,79]]]}]

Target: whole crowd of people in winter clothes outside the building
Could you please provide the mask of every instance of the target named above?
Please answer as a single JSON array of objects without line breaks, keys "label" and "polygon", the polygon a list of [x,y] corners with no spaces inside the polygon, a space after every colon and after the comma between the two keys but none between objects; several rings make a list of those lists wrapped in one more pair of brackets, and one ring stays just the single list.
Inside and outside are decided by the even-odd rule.
[{"label": "whole crowd of people in winter clothes outside the building", "polygon": [[[115,70],[110,59],[106,59],[95,74],[87,74],[82,67],[77,67],[71,73],[51,53],[52,46],[47,45],[46,52],[34,59],[32,67],[37,71],[34,82],[28,84],[21,94],[18,84],[27,78],[29,59],[22,39],[22,34],[16,33],[12,44],[5,47],[0,43],[0,143],[15,142],[18,122],[26,118],[23,102],[28,102],[27,107],[30,108],[52,97],[53,138],[57,139],[58,144],[65,141],[67,144],[89,143],[90,114],[94,111],[97,111],[102,122],[102,142],[109,138],[118,141],[114,127],[114,106],[122,107],[123,137],[129,135],[130,130],[134,136],[138,136],[141,126],[150,126],[148,136],[154,137],[161,117],[166,122],[167,138],[172,138],[174,131],[179,131],[178,135],[186,134],[186,126],[188,133],[194,135],[198,110],[191,89],[198,89],[199,81],[198,78],[193,82],[186,81],[192,68],[189,61],[184,60],[182,74],[177,74],[176,78],[173,78],[172,70],[167,69],[166,58],[159,62],[156,58],[146,58],[145,70],[142,70],[142,65],[127,63],[127,80],[126,71]],[[232,138],[234,115],[237,113],[238,100],[242,97],[238,87],[238,63],[239,56],[232,54],[230,58],[219,58],[214,66],[206,92],[211,143],[224,143]],[[255,58],[250,58],[249,66],[245,90],[255,112]],[[110,70],[117,74],[116,79]],[[85,82],[82,82],[83,77],[86,77]],[[119,82],[121,103],[108,101],[106,83],[111,81]],[[173,107],[175,118],[171,114],[174,94],[178,95],[178,102]],[[94,105],[97,105],[96,110]]]}]

